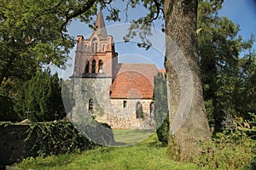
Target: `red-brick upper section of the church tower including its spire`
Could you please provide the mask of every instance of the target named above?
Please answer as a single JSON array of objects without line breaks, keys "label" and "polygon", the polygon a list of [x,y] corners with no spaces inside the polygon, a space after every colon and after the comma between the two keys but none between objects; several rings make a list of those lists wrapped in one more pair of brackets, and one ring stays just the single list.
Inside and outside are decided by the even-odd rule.
[{"label": "red-brick upper section of the church tower including its spire", "polygon": [[116,74],[118,54],[113,37],[108,36],[102,11],[96,18],[96,28],[88,39],[77,38],[74,77],[111,77]]}]

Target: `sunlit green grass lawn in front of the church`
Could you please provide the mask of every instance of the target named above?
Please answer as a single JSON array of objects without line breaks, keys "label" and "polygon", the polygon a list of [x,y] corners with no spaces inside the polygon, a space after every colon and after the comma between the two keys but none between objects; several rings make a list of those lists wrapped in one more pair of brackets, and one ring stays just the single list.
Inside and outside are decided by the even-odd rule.
[{"label": "sunlit green grass lawn in front of the church", "polygon": [[[132,131],[114,132],[120,143],[133,143],[144,135]],[[125,136],[125,133],[127,134]],[[143,134],[143,133],[141,133]],[[148,135],[148,134],[147,134]],[[132,138],[131,138],[132,137]],[[133,138],[134,137],[134,138]],[[27,158],[13,167],[22,169],[198,169],[195,164],[178,164],[166,157],[166,148],[160,147],[153,133],[143,142],[125,147],[98,147],[61,156]]]}]

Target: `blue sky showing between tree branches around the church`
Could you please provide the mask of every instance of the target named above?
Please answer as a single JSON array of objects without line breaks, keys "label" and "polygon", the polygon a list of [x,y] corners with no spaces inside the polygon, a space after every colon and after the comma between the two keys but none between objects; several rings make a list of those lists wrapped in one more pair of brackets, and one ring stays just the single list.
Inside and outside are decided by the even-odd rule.
[{"label": "blue sky showing between tree branches around the church", "polygon": [[[125,3],[115,3],[113,6],[121,9],[125,8]],[[143,15],[145,11],[142,8],[132,9],[129,11],[128,20],[136,19],[137,15]],[[105,20],[107,26],[108,34],[113,35],[115,41],[116,51],[119,53],[119,62],[145,62],[155,63],[158,67],[163,67],[163,55],[164,54],[164,34],[161,34],[159,31],[154,36],[154,39],[157,38],[157,44],[160,47],[151,48],[148,51],[145,51],[143,48],[137,48],[137,40],[133,40],[129,44],[122,41],[122,37],[125,34],[125,28],[122,27],[122,24],[125,23],[125,14],[121,14],[121,22],[113,23]],[[103,11],[103,15],[107,15],[106,11]],[[256,36],[256,0],[224,0],[223,8],[219,11],[219,15],[227,16],[235,24],[240,25],[240,34],[244,39],[248,39],[252,34]],[[127,22],[126,22],[127,23]],[[117,25],[117,26],[113,26]],[[68,27],[68,33],[73,37],[78,35],[83,35],[84,37],[90,35],[91,30],[83,23],[79,21],[74,21],[71,26]],[[163,38],[161,40],[161,38]],[[255,42],[254,42],[255,43]],[[155,47],[155,45],[153,45]],[[256,49],[256,44],[253,45],[253,48]],[[72,50],[70,57],[72,58],[69,62],[73,65],[74,59],[74,49]],[[145,57],[146,56],[146,57]],[[156,57],[157,56],[157,57]],[[67,68],[66,71],[58,71],[59,76],[66,79],[71,76],[73,73],[73,67]]]}]

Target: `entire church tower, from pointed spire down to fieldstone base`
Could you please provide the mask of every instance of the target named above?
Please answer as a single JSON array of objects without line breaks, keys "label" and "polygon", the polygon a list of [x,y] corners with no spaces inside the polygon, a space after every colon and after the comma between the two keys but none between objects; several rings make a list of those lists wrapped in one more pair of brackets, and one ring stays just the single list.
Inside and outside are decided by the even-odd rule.
[{"label": "entire church tower, from pointed spire down to fieldstone base", "polygon": [[[78,114],[90,113],[99,122],[106,122],[109,110],[109,87],[117,74],[118,54],[113,37],[105,27],[102,11],[96,18],[95,30],[90,37],[78,36],[73,71]],[[81,119],[81,118],[79,118]]]}]

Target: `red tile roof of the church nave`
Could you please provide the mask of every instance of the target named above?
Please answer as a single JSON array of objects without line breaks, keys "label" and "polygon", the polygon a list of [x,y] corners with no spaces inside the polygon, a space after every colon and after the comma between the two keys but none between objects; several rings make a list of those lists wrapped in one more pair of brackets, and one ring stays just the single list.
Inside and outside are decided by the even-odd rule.
[{"label": "red tile roof of the church nave", "polygon": [[119,64],[119,71],[110,88],[112,99],[152,99],[154,64]]}]

